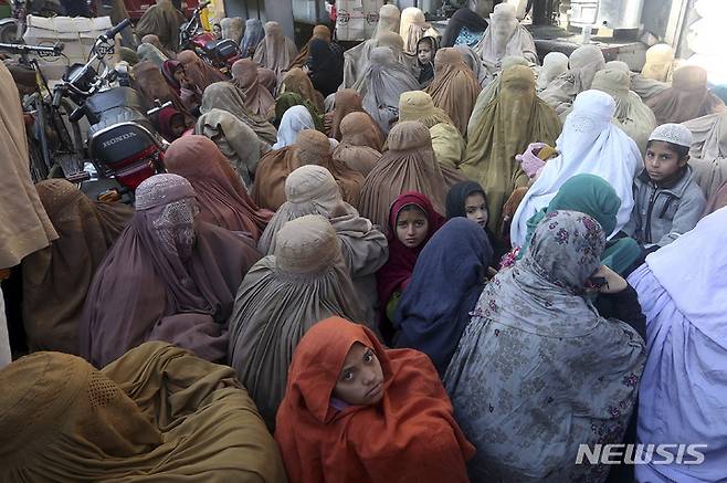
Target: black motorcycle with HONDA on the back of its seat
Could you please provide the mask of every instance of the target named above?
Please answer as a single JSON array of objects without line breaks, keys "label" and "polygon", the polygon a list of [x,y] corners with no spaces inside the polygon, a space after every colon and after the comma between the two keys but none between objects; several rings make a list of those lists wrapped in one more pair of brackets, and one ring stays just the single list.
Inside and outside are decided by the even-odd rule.
[{"label": "black motorcycle with HONDA on the back of its seat", "polygon": [[[77,126],[83,117],[91,125],[86,153],[101,180],[85,181],[86,186],[82,185],[82,189],[91,198],[99,199],[108,199],[109,196],[114,199],[113,192],[116,191],[127,203],[133,202],[134,190],[141,181],[165,172],[164,153],[168,143],[156,133],[148,116],[170,105],[159,105],[157,102],[154,108],[148,109],[146,99],[129,87],[128,82],[122,82],[127,85],[113,85],[118,81],[119,73],[109,69],[104,57],[112,52],[114,36],[129,23],[126,19],[101,35],[88,62],[72,65],[53,90],[53,106],[60,105],[65,96],[78,105],[69,115],[72,125]],[[104,67],[103,73],[96,72],[93,67],[95,63]]]}]

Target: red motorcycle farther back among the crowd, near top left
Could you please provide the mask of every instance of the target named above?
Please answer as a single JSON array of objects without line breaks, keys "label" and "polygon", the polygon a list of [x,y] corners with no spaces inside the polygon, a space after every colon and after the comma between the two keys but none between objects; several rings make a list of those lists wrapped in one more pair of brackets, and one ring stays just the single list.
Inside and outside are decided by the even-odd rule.
[{"label": "red motorcycle farther back among the crowd, near top left", "polygon": [[210,4],[210,0],[201,2],[192,12],[189,22],[179,29],[180,50],[192,50],[210,65],[226,73],[232,64],[241,57],[240,45],[233,40],[217,40],[214,34],[201,28],[200,15]]}]

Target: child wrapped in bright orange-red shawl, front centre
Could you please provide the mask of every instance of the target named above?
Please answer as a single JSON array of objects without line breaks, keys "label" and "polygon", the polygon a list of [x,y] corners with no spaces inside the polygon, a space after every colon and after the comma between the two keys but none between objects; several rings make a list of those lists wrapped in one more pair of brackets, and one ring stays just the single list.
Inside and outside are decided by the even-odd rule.
[{"label": "child wrapped in bright orange-red shawl, front centre", "polygon": [[467,482],[475,452],[430,359],[340,317],[298,344],[276,428],[296,483]]}]

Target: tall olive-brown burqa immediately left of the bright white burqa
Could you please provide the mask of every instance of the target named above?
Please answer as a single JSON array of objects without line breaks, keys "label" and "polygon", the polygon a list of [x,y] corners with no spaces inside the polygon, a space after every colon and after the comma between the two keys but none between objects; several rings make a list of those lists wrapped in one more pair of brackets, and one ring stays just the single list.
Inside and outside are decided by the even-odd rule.
[{"label": "tall olive-brown burqa immediately left of the bright white burqa", "polygon": [[528,183],[515,155],[530,143],[554,145],[561,124],[552,108],[535,95],[533,71],[515,65],[503,71],[499,94],[472,125],[460,169],[485,189],[487,225],[498,232],[505,201],[513,190]]}]

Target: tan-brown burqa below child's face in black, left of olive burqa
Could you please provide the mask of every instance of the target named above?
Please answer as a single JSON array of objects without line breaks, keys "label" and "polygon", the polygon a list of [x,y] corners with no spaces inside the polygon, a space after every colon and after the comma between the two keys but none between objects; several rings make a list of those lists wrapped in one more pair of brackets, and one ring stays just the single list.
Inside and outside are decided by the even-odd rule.
[{"label": "tan-brown burqa below child's face in black, left of olive burqa", "polygon": [[450,116],[462,136],[467,134],[467,123],[480,91],[477,77],[456,49],[436,51],[434,78],[425,92],[432,96],[434,105]]}]

